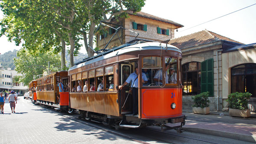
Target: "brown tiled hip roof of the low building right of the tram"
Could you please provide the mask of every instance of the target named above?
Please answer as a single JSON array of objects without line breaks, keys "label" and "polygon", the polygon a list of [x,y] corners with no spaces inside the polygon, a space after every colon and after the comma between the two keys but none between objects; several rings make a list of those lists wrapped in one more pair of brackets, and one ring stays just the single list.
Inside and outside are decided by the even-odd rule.
[{"label": "brown tiled hip roof of the low building right of the tram", "polygon": [[170,40],[164,41],[163,43],[174,45],[180,49],[185,49],[185,48],[191,48],[198,45],[204,45],[210,42],[216,42],[220,40],[226,40],[230,42],[243,44],[243,43],[234,41],[233,39],[224,37],[222,35],[218,35],[217,33],[210,32],[207,29],[190,34],[190,35],[182,36],[180,38],[170,39]]}]

